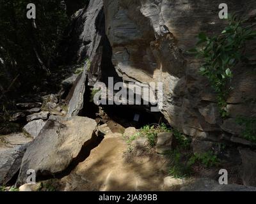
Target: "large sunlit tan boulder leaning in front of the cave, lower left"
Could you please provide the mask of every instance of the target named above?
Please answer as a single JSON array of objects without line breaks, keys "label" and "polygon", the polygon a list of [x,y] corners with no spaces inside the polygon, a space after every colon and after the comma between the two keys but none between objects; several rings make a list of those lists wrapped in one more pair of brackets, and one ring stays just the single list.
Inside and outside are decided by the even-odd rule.
[{"label": "large sunlit tan boulder leaning in front of the cave, lower left", "polygon": [[72,117],[63,122],[48,120],[24,154],[18,186],[26,182],[29,169],[35,170],[36,176],[65,170],[86,142],[90,142],[96,126],[95,120],[87,117]]}]

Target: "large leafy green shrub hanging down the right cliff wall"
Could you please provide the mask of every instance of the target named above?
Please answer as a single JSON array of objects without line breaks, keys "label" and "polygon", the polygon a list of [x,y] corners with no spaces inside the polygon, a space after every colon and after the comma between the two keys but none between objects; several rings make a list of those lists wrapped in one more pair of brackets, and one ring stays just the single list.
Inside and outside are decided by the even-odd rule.
[{"label": "large leafy green shrub hanging down the right cliff wall", "polygon": [[229,18],[229,25],[218,36],[198,34],[196,48],[189,52],[202,59],[200,74],[207,77],[217,94],[221,117],[227,117],[227,97],[232,87],[227,87],[233,77],[232,70],[239,62],[246,62],[244,55],[246,41],[256,37],[254,25],[245,26],[246,19],[236,15]]}]

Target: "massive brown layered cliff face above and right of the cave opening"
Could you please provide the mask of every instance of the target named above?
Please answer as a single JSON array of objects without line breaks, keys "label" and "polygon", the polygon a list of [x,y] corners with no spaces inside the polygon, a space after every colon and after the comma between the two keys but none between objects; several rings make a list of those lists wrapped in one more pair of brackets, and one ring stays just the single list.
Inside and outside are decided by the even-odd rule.
[{"label": "massive brown layered cliff face above and right of the cave opening", "polygon": [[[227,21],[218,17],[221,3],[104,0],[106,34],[118,76],[127,82],[163,82],[161,113],[172,126],[201,140],[218,141],[221,131],[239,134],[234,120],[223,125],[216,96],[208,80],[198,74],[199,62],[186,54],[186,50],[195,47],[198,33],[213,35],[225,28]],[[243,14],[255,6],[253,1],[228,2],[229,10]],[[231,119],[256,114],[255,104],[244,101],[256,95],[255,75],[237,69],[234,90],[228,98]],[[234,128],[227,127],[230,122]]]}]

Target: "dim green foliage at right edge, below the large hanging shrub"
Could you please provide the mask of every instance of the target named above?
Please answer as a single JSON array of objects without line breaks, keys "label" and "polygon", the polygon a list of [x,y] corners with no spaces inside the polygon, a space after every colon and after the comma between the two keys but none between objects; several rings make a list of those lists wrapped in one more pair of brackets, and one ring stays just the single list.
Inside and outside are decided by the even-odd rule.
[{"label": "dim green foliage at right edge, below the large hanging shrub", "polygon": [[256,143],[256,117],[237,117],[236,122],[243,128],[241,136]]}]

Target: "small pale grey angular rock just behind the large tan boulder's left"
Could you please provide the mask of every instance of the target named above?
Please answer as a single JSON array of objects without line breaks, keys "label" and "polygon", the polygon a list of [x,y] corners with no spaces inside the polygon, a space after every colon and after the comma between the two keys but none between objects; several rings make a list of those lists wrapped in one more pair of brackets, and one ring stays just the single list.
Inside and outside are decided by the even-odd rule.
[{"label": "small pale grey angular rock just behind the large tan boulder's left", "polygon": [[29,134],[29,136],[36,138],[40,131],[44,128],[46,122],[44,120],[33,120],[24,126],[23,130]]}]

